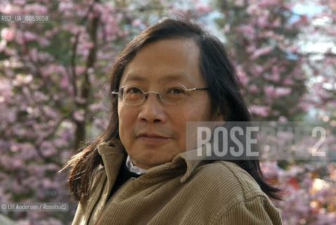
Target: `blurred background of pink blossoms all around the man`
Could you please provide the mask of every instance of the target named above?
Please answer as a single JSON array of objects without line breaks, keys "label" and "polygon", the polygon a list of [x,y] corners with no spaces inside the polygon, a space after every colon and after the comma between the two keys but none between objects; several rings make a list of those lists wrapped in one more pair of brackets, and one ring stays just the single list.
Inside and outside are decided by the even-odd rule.
[{"label": "blurred background of pink blossoms all around the man", "polygon": [[[336,151],[336,1],[1,1],[0,203],[69,203],[69,212],[6,212],[15,224],[71,224],[66,172],[75,150],[108,124],[108,72],[138,32],[187,15],[223,41],[257,121],[323,122]],[[333,135],[334,134],[334,135]],[[336,164],[263,160],[284,188],[283,224],[336,224]]]}]

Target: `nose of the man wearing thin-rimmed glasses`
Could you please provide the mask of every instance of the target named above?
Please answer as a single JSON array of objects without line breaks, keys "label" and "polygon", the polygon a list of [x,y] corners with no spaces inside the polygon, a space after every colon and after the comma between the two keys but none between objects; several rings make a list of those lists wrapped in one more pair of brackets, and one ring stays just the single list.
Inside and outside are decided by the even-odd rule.
[{"label": "nose of the man wearing thin-rimmed glasses", "polygon": [[[153,93],[153,94],[151,94]],[[163,102],[155,91],[150,91],[145,101],[140,106],[139,120],[143,122],[164,123],[167,122],[167,112],[164,110]]]}]

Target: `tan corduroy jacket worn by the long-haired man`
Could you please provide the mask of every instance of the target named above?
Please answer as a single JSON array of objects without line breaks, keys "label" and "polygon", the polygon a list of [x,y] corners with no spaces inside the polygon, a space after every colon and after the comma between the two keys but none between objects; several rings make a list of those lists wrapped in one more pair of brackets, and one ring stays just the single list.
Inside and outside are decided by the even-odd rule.
[{"label": "tan corduroy jacket worn by the long-haired man", "polygon": [[[130,179],[108,197],[124,159],[120,141],[101,143],[101,176],[72,224],[282,224],[256,181],[233,162],[188,160],[186,153]],[[108,199],[109,198],[109,199]]]}]

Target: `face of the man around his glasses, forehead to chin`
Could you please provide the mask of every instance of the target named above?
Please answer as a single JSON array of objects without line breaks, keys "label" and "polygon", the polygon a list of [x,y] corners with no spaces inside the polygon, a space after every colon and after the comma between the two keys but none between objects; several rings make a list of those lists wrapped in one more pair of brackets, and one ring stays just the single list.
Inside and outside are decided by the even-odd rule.
[{"label": "face of the man around his glasses, forehead to chin", "polygon": [[[155,41],[143,46],[124,68],[119,88],[135,85],[145,92],[160,91],[165,84],[205,88],[199,58],[191,39]],[[119,136],[134,165],[149,169],[186,151],[186,122],[208,121],[209,112],[207,90],[189,91],[177,105],[162,102],[157,94],[148,94],[139,105],[119,101]]]}]

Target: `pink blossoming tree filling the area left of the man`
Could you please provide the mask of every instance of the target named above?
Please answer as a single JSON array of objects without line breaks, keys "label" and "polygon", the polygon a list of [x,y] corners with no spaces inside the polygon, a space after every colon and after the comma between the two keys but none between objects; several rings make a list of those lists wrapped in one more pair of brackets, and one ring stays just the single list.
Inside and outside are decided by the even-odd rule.
[{"label": "pink blossoming tree filling the area left of the man", "polygon": [[[105,127],[106,75],[122,46],[147,26],[134,13],[144,6],[124,1],[1,3],[1,14],[51,17],[50,23],[1,24],[1,202],[71,202],[66,174],[57,172]],[[20,224],[65,224],[73,217],[71,206],[69,214],[8,216]]]}]

